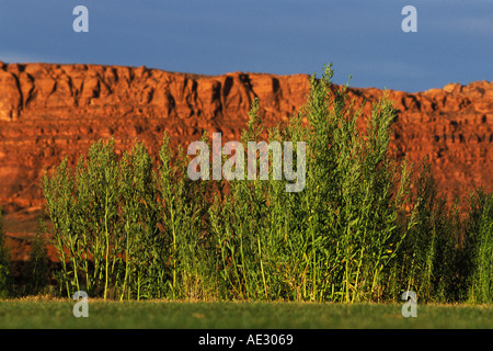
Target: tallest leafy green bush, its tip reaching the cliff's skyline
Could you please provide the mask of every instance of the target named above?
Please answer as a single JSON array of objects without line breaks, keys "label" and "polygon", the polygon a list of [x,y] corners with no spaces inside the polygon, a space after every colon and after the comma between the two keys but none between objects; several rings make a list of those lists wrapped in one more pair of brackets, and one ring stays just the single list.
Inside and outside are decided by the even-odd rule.
[{"label": "tallest leafy green bush, its tip reaching the cliff's skyline", "polygon": [[320,80],[312,76],[303,110],[310,131],[307,185],[295,196],[297,223],[303,224],[298,236],[307,248],[305,288],[311,299],[379,298],[387,265],[409,229],[397,227],[409,169],[404,165],[398,180],[388,149],[395,117],[390,101],[374,104],[363,134],[347,86],[332,89],[332,75],[328,66]]}]

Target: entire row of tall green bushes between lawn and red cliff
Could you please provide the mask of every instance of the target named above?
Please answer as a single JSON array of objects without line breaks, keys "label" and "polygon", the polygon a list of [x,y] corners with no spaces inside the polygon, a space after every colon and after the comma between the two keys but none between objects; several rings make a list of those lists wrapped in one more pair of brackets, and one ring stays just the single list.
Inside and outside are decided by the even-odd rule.
[{"label": "entire row of tall green bushes between lawn and red cliff", "polygon": [[[43,273],[22,291],[42,291],[53,274],[57,294],[69,297],[355,303],[414,291],[422,302],[491,303],[493,194],[470,194],[462,215],[438,194],[426,159],[410,165],[390,152],[391,102],[363,116],[347,86],[331,89],[332,76],[330,65],[313,75],[305,106],[267,131],[255,100],[241,137],[305,141],[301,192],[272,177],[193,181],[190,156],[173,152],[165,134],[159,160],[138,140],[119,157],[110,139],[74,169],[64,160],[46,171],[50,227],[28,265]],[[57,271],[45,271],[42,231],[59,254]],[[13,283],[0,253],[8,296]]]}]

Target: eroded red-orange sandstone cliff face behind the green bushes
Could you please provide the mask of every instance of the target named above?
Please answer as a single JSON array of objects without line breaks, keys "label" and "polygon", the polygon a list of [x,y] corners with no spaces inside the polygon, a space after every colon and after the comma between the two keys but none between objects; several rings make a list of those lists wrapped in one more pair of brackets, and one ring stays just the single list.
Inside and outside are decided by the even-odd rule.
[{"label": "eroded red-orange sandstone cliff face behind the green bushes", "polygon": [[[39,206],[44,168],[90,145],[135,138],[157,156],[163,131],[184,148],[204,129],[239,139],[255,97],[266,125],[287,121],[306,101],[308,76],[233,72],[197,76],[146,67],[0,63],[0,204],[7,212]],[[382,91],[349,89],[371,110]],[[450,199],[493,190],[493,83],[447,84],[420,93],[389,91],[399,110],[392,147],[417,162],[428,155]]]}]

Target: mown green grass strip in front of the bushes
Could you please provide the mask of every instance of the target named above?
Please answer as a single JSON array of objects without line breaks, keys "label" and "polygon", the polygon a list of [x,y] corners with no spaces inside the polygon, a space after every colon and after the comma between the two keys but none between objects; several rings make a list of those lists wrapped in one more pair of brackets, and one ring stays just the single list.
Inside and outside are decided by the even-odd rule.
[{"label": "mown green grass strip in front of the bushes", "polygon": [[74,302],[0,302],[0,328],[493,328],[493,306],[417,305],[404,318],[401,304],[179,303],[89,301],[89,318]]}]

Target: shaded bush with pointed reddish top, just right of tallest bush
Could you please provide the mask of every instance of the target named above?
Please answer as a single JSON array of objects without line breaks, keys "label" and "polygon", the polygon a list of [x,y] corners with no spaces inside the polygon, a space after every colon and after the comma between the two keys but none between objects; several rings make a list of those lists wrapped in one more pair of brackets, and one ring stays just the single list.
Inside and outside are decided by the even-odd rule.
[{"label": "shaded bush with pointed reddish top, just right of tallest bush", "polygon": [[399,254],[399,287],[395,296],[414,291],[423,302],[450,302],[462,296],[465,275],[460,271],[463,245],[458,205],[447,206],[429,160],[421,166],[414,193],[415,226],[410,230]]}]

